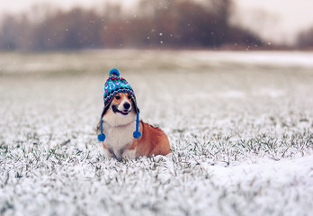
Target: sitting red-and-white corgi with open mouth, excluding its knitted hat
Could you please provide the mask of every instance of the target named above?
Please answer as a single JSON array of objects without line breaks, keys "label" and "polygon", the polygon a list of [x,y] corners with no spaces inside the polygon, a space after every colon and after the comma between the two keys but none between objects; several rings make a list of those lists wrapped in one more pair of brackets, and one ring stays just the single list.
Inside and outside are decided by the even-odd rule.
[{"label": "sitting red-and-white corgi with open mouth, excluding its knitted hat", "polygon": [[[105,157],[121,160],[171,153],[165,132],[137,119],[139,110],[136,109],[131,94],[119,92],[113,94],[111,100],[103,110],[102,119],[97,127],[98,134],[102,133],[102,130],[105,131],[105,140],[102,143]],[[139,125],[136,125],[137,123]],[[133,135],[135,128],[138,128],[139,134],[141,133],[136,139]]]}]

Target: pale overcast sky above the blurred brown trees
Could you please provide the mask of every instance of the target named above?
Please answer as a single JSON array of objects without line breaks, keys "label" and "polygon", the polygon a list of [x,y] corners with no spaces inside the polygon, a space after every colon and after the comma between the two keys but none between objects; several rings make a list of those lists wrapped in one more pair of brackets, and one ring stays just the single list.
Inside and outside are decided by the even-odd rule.
[{"label": "pale overcast sky above the blurred brown trees", "polygon": [[[106,2],[121,2],[131,8],[138,0],[0,0],[0,14],[30,10],[33,4],[56,4],[63,9],[76,5],[95,7]],[[152,0],[151,0],[152,1]],[[205,0],[198,0],[205,1]],[[313,27],[313,0],[234,0],[233,23],[259,33],[269,42],[292,42],[298,32]]]}]

